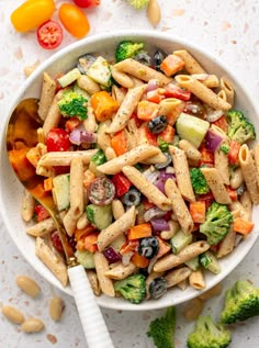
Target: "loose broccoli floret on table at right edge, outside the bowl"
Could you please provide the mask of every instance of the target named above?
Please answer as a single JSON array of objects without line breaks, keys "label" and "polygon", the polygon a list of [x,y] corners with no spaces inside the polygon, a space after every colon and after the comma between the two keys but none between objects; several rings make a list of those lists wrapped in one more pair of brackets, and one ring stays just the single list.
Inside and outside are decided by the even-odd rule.
[{"label": "loose broccoli floret on table at right edge, outside the bowl", "polygon": [[221,323],[233,324],[259,315],[259,289],[247,280],[238,280],[225,296]]}]

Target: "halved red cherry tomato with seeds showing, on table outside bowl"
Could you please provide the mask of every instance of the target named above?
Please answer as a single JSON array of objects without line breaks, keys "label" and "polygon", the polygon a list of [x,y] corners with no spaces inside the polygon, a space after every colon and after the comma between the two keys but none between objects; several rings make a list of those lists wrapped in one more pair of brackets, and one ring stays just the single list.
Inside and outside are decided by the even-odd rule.
[{"label": "halved red cherry tomato with seeds showing, on table outside bowl", "polygon": [[37,41],[45,49],[53,49],[63,41],[63,29],[55,21],[47,21],[37,29]]}]

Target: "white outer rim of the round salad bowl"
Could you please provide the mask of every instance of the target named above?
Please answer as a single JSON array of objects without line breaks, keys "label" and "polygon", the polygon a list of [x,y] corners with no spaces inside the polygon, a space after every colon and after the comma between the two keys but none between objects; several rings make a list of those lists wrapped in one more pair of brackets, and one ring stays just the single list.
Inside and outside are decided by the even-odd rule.
[{"label": "white outer rim of the round salad bowl", "polygon": [[[196,50],[199,52],[199,54],[201,54],[202,56],[205,57],[205,59],[209,59],[211,61],[213,61],[215,65],[217,65],[221,69],[227,71],[227,75],[230,77],[230,79],[237,83],[237,86],[241,87],[243,83],[240,82],[240,80],[235,76],[234,71],[232,71],[232,69],[229,68],[229,66],[225,63],[223,63],[218,57],[212,55],[210,52],[207,52],[206,49],[204,49],[203,47],[201,47],[199,44],[195,43],[191,43],[188,40],[184,40],[180,36],[177,35],[172,35],[172,34],[168,34],[168,33],[160,33],[160,32],[155,32],[151,30],[139,30],[139,31],[133,31],[133,30],[120,30],[120,31],[111,31],[108,33],[99,33],[99,34],[94,34],[91,35],[89,37],[86,37],[83,40],[80,40],[78,42],[75,42],[72,44],[69,44],[68,46],[61,48],[60,50],[56,52],[55,54],[53,54],[50,57],[48,57],[45,61],[43,61],[24,81],[24,83],[20,87],[20,89],[18,90],[18,92],[15,93],[15,97],[13,99],[13,102],[11,103],[9,111],[7,113],[7,116],[4,119],[4,128],[3,131],[1,131],[1,144],[4,145],[5,147],[5,127],[7,127],[7,123],[9,120],[9,115],[11,114],[12,110],[14,109],[14,106],[18,104],[18,102],[23,99],[23,94],[25,93],[26,89],[30,87],[30,85],[33,82],[33,80],[40,76],[44,70],[46,70],[46,68],[48,66],[50,66],[52,64],[54,64],[56,60],[58,60],[60,57],[63,57],[64,55],[68,54],[70,50],[74,50],[76,48],[80,48],[85,45],[89,45],[89,44],[93,44],[94,42],[99,42],[99,41],[104,41],[104,40],[111,40],[112,37],[114,38],[123,38],[123,37],[133,37],[133,38],[139,38],[139,37],[144,37],[146,40],[148,38],[156,38],[156,40],[164,40],[164,41],[168,41],[169,43],[173,43],[173,44],[178,44],[181,45],[183,47],[188,47],[190,49]],[[248,90],[245,90],[241,87],[241,91],[245,96],[245,98],[247,98],[249,104],[251,104],[251,108],[258,113],[258,105],[254,102],[250,93]],[[3,146],[2,146],[3,148]],[[2,153],[2,151],[1,151]],[[1,154],[2,156],[2,154]],[[4,198],[1,191],[1,187],[0,187],[0,204],[4,207]],[[5,209],[5,207],[4,207]],[[47,279],[47,276],[45,274],[45,272],[43,272],[41,269],[36,269],[35,265],[33,265],[33,260],[30,259],[30,257],[26,254],[26,250],[24,248],[22,248],[19,244],[18,240],[14,238],[14,234],[12,233],[12,228],[11,228],[11,224],[10,221],[7,217],[7,214],[3,214],[3,211],[0,212],[2,215],[2,220],[4,225],[7,226],[7,229],[9,232],[9,235],[11,237],[11,239],[13,240],[14,245],[16,246],[16,248],[20,250],[20,252],[23,255],[24,259],[33,267],[33,269],[40,273],[48,283],[52,283],[53,285],[57,287],[60,291],[63,291],[66,294],[69,294],[72,296],[71,290],[70,288],[64,289],[61,284],[57,284],[54,283],[52,280]],[[254,232],[256,234],[256,231]],[[258,232],[257,232],[258,234]],[[135,304],[131,304],[128,303],[126,300],[125,303],[124,302],[120,302],[117,301],[119,305],[114,305],[113,303],[105,303],[105,300],[102,301],[100,299],[102,298],[97,298],[97,302],[101,307],[105,307],[105,308],[111,308],[111,310],[123,310],[123,311],[144,311],[144,310],[158,310],[158,308],[164,308],[170,304],[180,304],[183,303],[185,301],[189,301],[195,296],[198,296],[199,294],[210,290],[212,287],[214,287],[216,283],[221,282],[224,278],[226,278],[227,276],[230,274],[230,272],[239,265],[239,262],[241,262],[241,260],[245,258],[245,256],[251,250],[252,246],[255,245],[257,237],[254,237],[254,239],[250,243],[250,246],[247,249],[244,248],[239,248],[239,261],[238,262],[233,262],[232,266],[227,269],[227,272],[222,271],[219,274],[214,276],[214,278],[211,280],[210,285],[202,290],[202,291],[192,291],[189,294],[185,294],[185,298],[183,301],[174,301],[173,303],[169,303],[169,301],[165,304],[164,302],[156,300],[153,303],[150,303],[149,301],[143,302],[139,305],[135,305]],[[172,295],[173,298],[173,295]]]}]

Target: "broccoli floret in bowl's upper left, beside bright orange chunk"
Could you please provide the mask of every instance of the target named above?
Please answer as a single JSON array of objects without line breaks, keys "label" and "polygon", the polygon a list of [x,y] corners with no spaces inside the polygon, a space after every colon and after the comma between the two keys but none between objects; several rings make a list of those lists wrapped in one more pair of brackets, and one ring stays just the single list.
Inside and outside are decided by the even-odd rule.
[{"label": "broccoli floret in bowl's upper left, beside bright orange chunk", "polygon": [[65,117],[87,119],[87,99],[71,90],[64,92],[61,100],[58,102],[58,108]]}]

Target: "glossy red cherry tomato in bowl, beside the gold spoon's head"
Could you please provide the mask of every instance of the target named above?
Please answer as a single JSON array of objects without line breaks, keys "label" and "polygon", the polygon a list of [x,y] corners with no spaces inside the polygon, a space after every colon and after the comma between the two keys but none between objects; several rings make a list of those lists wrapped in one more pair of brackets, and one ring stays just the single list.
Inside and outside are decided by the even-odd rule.
[{"label": "glossy red cherry tomato in bowl, beside the gold spoon's head", "polygon": [[71,144],[68,133],[63,128],[53,128],[46,137],[47,151],[68,151]]}]

